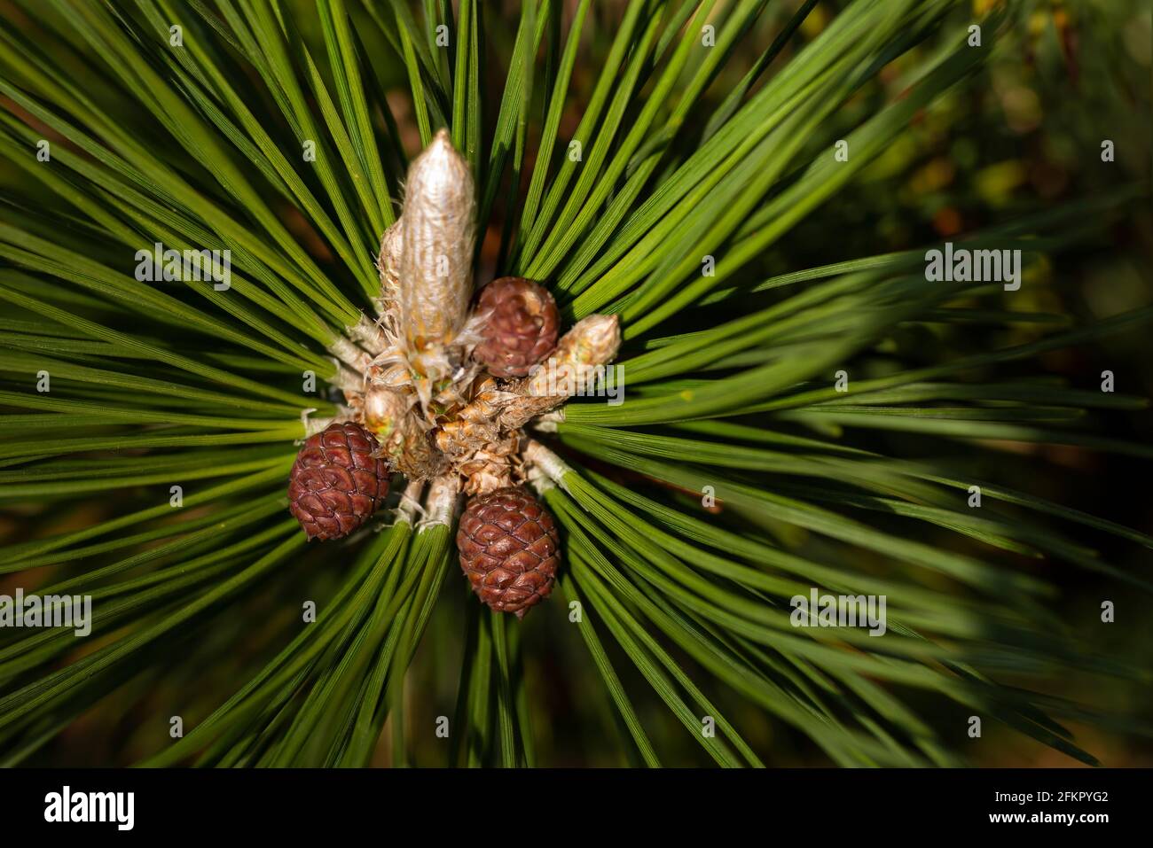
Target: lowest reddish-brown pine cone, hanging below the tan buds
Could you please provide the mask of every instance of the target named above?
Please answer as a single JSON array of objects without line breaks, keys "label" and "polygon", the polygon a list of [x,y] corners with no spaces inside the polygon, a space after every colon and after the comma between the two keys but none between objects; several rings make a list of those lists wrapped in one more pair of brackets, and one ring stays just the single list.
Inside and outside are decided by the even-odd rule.
[{"label": "lowest reddish-brown pine cone, hanging below the tan buds", "polygon": [[523,489],[472,498],[460,516],[457,547],[473,591],[497,612],[523,618],[552,591],[560,563],[557,525]]}]

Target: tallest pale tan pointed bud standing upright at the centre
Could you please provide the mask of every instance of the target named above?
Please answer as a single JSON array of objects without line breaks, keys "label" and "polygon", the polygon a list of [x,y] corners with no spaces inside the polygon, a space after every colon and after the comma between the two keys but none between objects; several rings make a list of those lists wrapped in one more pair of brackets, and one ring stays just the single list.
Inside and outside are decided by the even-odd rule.
[{"label": "tallest pale tan pointed bud standing upright at the centre", "polygon": [[408,168],[401,220],[400,315],[417,353],[460,332],[473,295],[476,192],[445,130]]}]

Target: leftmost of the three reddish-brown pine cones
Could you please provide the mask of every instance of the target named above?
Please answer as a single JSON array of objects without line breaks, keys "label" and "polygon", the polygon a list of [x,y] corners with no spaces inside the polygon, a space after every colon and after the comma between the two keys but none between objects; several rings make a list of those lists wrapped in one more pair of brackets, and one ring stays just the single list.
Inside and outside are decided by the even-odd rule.
[{"label": "leftmost of the three reddish-brown pine cones", "polygon": [[360,424],[330,424],[296,454],[288,510],[309,539],[339,539],[361,527],[389,494],[389,463],[372,454],[376,438]]}]

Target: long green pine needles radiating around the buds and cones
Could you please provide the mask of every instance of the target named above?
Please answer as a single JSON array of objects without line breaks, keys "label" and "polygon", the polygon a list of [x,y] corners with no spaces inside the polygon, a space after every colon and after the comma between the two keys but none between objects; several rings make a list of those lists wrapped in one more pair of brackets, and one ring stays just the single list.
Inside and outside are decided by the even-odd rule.
[{"label": "long green pine needles radiating around the buds and cones", "polygon": [[[1053,583],[1022,562],[1125,595],[1150,584],[1073,537],[1153,539],[859,437],[1148,457],[1076,422],[1139,400],[996,374],[1150,311],[1071,328],[1013,311],[996,283],[927,283],[924,247],[749,272],[970,84],[1011,17],[981,20],[974,50],[956,29],[971,5],[952,0],[839,3],[808,38],[815,0],[774,8],[771,26],[766,0],[638,0],[611,26],[590,0],[523,0],[507,20],[480,0],[3,6],[0,150],[18,179],[0,203],[0,502],[17,521],[0,588],[90,595],[93,621],[86,639],[0,631],[0,763],[45,762],[74,726],[114,730],[115,762],[212,766],[367,765],[382,749],[553,764],[540,741],[568,732],[619,733],[619,763],[774,764],[766,726],[841,765],[954,765],[971,716],[1093,763],[1070,724],[1135,729],[1046,692],[1145,672],[1086,649],[1095,620],[1056,619]],[[956,37],[939,39],[945,20]],[[884,68],[903,94],[843,126]],[[545,494],[564,562],[522,624],[464,603],[445,525],[390,512],[317,550],[286,512],[302,414],[337,414],[329,346],[371,313],[419,149],[405,128],[423,146],[440,127],[475,174],[481,265],[542,281],[566,324],[621,320],[625,402],[578,399],[535,433],[570,468]],[[1131,200],[957,242],[1031,257]],[[229,287],[138,281],[156,242],[229,250]],[[910,321],[974,316],[1034,335],[857,366]],[[886,596],[888,633],[794,628],[789,599],[814,586]],[[543,675],[570,674],[589,686],[563,706]]]}]

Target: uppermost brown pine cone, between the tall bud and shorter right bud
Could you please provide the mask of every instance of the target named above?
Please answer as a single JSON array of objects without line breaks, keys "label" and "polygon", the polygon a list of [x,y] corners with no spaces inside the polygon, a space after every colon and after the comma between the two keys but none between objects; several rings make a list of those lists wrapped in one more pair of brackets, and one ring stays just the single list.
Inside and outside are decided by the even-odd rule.
[{"label": "uppermost brown pine cone, between the tall bud and shorter right bud", "polygon": [[473,358],[493,377],[525,377],[557,347],[557,304],[537,282],[523,277],[493,280],[481,289],[476,311],[490,315]]}]

